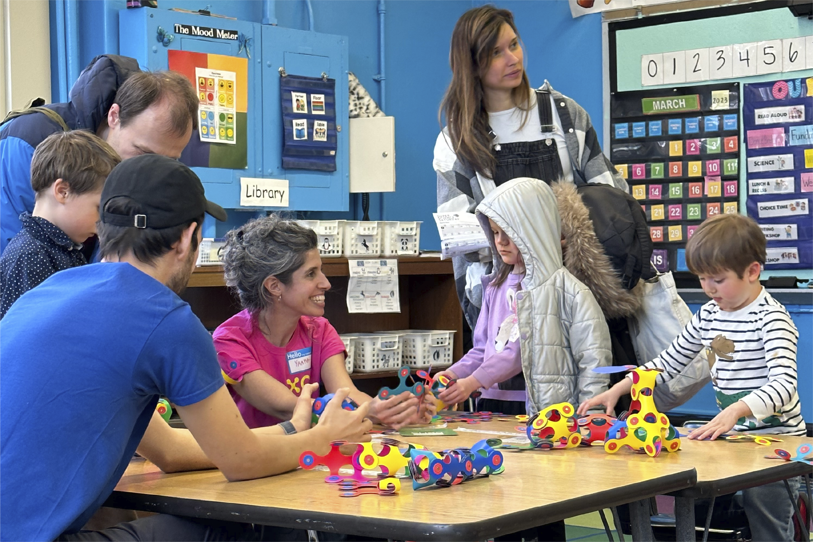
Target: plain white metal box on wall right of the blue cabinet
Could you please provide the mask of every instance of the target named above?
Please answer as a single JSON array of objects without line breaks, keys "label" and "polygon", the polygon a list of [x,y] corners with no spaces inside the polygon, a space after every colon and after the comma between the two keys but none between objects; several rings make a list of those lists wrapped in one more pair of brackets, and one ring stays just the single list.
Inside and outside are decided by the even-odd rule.
[{"label": "plain white metal box on wall right of the blue cabinet", "polygon": [[395,192],[395,117],[350,119],[350,192]]}]

